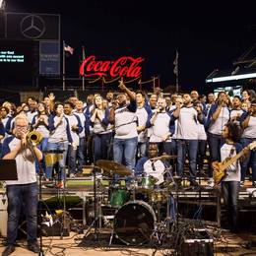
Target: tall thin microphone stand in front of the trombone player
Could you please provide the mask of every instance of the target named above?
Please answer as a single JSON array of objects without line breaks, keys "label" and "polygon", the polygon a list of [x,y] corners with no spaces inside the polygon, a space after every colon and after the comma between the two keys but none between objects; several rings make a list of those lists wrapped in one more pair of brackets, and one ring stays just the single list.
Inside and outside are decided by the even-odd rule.
[{"label": "tall thin microphone stand in front of the trombone player", "polygon": [[41,212],[42,212],[42,207],[41,207],[41,201],[42,201],[42,193],[41,193],[41,178],[42,178],[42,175],[43,175],[43,170],[41,168],[41,165],[39,163],[39,160],[37,159],[35,153],[34,153],[34,149],[33,149],[33,145],[32,145],[32,142],[31,140],[28,140],[29,142],[29,145],[30,145],[30,150],[32,152],[32,157],[33,159],[37,162],[38,166],[39,166],[39,218],[38,218],[38,224],[39,224],[39,229],[40,229],[40,232],[39,232],[39,238],[40,238],[40,243],[39,243],[39,252],[38,252],[38,256],[44,256],[44,252],[42,250],[42,235],[41,235],[41,223],[42,223],[42,220],[41,220]]}]

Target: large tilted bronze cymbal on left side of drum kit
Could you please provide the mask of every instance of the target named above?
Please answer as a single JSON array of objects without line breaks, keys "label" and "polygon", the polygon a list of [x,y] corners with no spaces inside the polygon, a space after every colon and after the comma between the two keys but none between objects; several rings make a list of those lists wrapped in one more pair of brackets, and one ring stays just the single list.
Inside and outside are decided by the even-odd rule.
[{"label": "large tilted bronze cymbal on left side of drum kit", "polygon": [[132,174],[132,171],[126,166],[113,160],[97,160],[96,165],[110,175],[118,174],[121,176],[128,176]]}]

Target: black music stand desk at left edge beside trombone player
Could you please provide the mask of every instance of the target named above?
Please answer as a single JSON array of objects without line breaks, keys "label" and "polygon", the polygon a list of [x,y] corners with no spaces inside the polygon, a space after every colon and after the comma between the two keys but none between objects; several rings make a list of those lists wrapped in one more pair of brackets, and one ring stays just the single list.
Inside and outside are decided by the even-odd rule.
[{"label": "black music stand desk at left edge beside trombone player", "polygon": [[0,180],[18,180],[16,160],[0,160]]}]

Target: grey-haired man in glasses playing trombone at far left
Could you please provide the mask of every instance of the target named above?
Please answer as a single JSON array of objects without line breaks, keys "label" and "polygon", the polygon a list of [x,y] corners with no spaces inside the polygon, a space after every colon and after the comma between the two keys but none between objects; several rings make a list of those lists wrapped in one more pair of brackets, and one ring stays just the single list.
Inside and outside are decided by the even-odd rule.
[{"label": "grey-haired man in glasses playing trombone at far left", "polygon": [[[15,250],[21,210],[25,209],[28,227],[28,248],[38,253],[37,232],[37,183],[35,164],[32,151],[39,161],[41,152],[30,143],[27,135],[29,120],[26,115],[15,118],[14,135],[7,138],[3,144],[3,160],[16,160],[18,180],[6,181],[8,198],[8,229],[7,247],[3,256],[10,255]],[[8,170],[6,170],[8,171]]]}]

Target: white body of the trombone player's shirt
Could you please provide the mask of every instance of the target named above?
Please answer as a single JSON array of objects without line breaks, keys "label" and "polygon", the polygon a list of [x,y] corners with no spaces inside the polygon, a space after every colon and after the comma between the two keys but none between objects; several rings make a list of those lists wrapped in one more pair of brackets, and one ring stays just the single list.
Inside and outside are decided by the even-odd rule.
[{"label": "white body of the trombone player's shirt", "polygon": [[[10,151],[15,149],[20,142],[20,139],[14,138],[9,144]],[[27,158],[31,157],[32,152],[28,149],[16,156],[15,160],[17,164],[18,180],[6,181],[7,185],[30,184],[36,182],[35,163],[34,161],[27,160]]]}]

